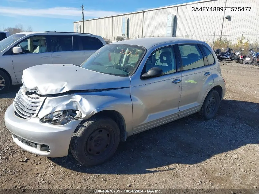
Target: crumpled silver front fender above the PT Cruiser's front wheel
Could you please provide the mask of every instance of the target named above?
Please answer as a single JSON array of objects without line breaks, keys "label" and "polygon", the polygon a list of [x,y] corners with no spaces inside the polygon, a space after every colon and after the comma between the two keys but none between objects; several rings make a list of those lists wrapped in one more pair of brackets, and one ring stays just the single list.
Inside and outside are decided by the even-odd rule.
[{"label": "crumpled silver front fender above the PT Cruiser's front wheel", "polygon": [[70,109],[79,110],[82,113],[82,120],[103,110],[117,111],[124,117],[127,132],[132,133],[130,88],[49,96],[46,97],[37,117],[42,118],[51,112]]}]

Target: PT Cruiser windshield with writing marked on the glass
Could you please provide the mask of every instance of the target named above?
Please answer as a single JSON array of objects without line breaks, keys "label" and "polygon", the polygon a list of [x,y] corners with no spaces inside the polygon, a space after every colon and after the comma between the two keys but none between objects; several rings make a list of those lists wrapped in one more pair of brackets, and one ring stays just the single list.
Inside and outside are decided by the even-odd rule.
[{"label": "PT Cruiser windshield with writing marked on the glass", "polygon": [[108,44],[91,55],[81,67],[104,74],[130,76],[138,67],[145,49],[127,44]]}]

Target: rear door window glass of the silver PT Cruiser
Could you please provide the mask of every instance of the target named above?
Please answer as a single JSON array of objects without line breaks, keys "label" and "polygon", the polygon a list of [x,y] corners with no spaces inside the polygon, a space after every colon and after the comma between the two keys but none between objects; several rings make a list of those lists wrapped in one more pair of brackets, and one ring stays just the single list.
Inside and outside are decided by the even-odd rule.
[{"label": "rear door window glass of the silver PT Cruiser", "polygon": [[203,55],[197,44],[183,44],[178,45],[178,47],[181,54],[183,70],[204,66]]}]

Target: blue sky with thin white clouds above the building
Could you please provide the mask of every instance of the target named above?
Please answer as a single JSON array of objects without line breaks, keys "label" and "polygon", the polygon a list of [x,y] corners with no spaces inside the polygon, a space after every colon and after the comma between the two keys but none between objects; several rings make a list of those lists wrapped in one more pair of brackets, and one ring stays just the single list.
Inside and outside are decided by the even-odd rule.
[{"label": "blue sky with thin white clouds above the building", "polygon": [[[194,0],[0,0],[0,30],[22,25],[33,31],[73,31],[73,21],[193,2]],[[127,2],[127,3],[126,3]]]}]

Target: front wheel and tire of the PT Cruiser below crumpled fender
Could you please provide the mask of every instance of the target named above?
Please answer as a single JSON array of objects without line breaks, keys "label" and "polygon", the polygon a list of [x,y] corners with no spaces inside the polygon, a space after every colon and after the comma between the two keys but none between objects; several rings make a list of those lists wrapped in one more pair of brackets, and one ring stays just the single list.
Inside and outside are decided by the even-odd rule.
[{"label": "front wheel and tire of the PT Cruiser below crumpled fender", "polygon": [[106,117],[91,117],[78,125],[73,133],[70,150],[85,166],[99,165],[109,160],[120,143],[120,129]]}]

